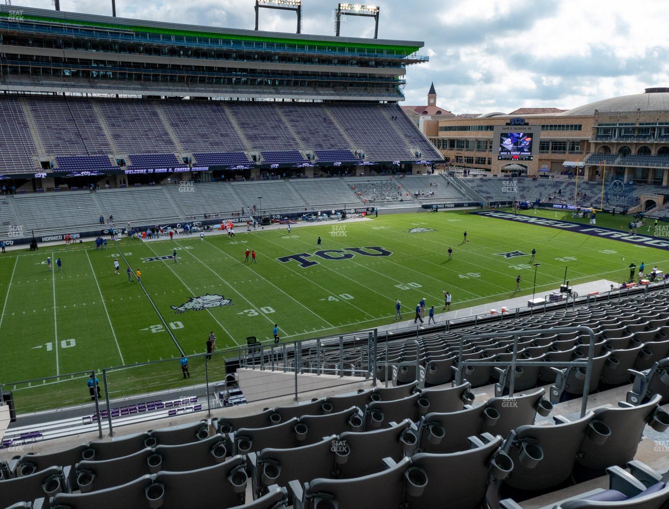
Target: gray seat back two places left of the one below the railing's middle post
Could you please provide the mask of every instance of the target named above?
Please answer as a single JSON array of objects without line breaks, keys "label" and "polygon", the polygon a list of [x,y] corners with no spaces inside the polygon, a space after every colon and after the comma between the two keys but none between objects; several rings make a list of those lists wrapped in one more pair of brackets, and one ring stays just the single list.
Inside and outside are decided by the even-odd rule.
[{"label": "gray seat back two places left of the one below the railing's middle post", "polygon": [[[408,419],[377,431],[347,431],[339,435],[339,440],[346,446],[345,450],[335,451],[341,478],[355,478],[379,472],[383,468],[381,460],[384,457],[391,457],[399,462],[405,453],[413,453],[417,445],[417,435],[411,429],[411,421]],[[345,461],[340,457],[343,455],[346,456]]]}]

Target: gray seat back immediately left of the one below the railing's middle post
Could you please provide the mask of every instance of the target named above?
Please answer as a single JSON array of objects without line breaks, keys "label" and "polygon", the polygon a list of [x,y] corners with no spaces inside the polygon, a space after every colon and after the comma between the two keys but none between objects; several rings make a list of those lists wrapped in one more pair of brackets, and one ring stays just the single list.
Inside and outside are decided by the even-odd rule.
[{"label": "gray seat back immediately left of the one below the railing's middle post", "polygon": [[431,412],[421,417],[417,450],[449,453],[468,449],[468,437],[480,434],[485,409],[485,405],[478,405],[455,412]]}]

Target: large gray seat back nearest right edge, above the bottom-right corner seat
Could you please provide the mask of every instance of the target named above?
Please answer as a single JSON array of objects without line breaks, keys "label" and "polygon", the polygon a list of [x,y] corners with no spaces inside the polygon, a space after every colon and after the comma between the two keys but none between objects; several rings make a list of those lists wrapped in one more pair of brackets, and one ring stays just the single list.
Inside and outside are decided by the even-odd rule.
[{"label": "large gray seat back nearest right edge, above the bottom-right corner seat", "polygon": [[669,427],[669,414],[660,409],[660,399],[660,395],[655,395],[648,403],[637,407],[619,403],[619,408],[596,409],[593,420],[601,421],[610,435],[603,443],[585,435],[577,463],[586,468],[605,470],[634,460],[646,424],[650,423],[657,431]]}]

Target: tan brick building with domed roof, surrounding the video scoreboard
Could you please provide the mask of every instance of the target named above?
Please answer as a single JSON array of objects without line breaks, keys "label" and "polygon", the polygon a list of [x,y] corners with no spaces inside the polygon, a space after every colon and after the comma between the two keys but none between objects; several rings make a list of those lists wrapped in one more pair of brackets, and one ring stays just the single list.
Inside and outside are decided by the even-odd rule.
[{"label": "tan brick building with domed roof, surrounding the video scoreboard", "polygon": [[[498,161],[492,154],[494,126],[522,116],[541,126],[538,155],[533,161]],[[459,167],[494,175],[518,165],[527,175],[554,175],[581,169],[590,181],[607,178],[668,185],[669,88],[647,88],[644,94],[605,99],[571,110],[521,108],[510,114],[487,113],[425,120],[423,132]],[[609,173],[612,172],[612,173]]]}]

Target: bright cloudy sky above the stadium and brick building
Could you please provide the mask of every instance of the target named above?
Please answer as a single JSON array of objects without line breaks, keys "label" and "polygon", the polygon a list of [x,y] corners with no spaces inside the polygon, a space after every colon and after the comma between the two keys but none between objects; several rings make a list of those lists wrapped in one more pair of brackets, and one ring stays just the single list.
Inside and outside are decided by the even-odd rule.
[{"label": "bright cloudy sky above the stadium and brick building", "polygon": [[[302,0],[302,33],[334,35],[338,0]],[[425,41],[404,104],[455,113],[571,108],[669,86],[668,0],[375,0],[379,38]],[[12,0],[52,8],[51,0]],[[111,0],[61,0],[64,11],[111,14]],[[254,27],[254,0],[116,0],[120,17]],[[261,11],[260,29],[292,32],[293,13]],[[347,17],[342,35],[372,37],[373,20]]]}]

